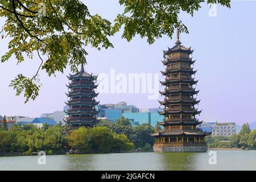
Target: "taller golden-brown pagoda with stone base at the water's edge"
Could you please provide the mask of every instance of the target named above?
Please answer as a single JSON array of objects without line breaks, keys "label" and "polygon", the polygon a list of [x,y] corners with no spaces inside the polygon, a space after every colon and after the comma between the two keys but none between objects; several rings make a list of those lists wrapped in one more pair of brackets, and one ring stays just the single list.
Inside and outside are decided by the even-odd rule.
[{"label": "taller golden-brown pagoda with stone base at the water's edge", "polygon": [[151,134],[155,137],[155,152],[206,152],[207,144],[204,137],[207,133],[196,128],[201,122],[196,115],[201,111],[195,105],[199,104],[195,94],[199,91],[193,88],[197,80],[192,77],[196,71],[191,65],[195,63],[189,55],[193,50],[181,45],[179,40],[179,29],[177,29],[177,40],[175,46],[168,48],[164,53],[163,64],[166,76],[160,83],[165,86],[163,92],[164,101],[159,101],[164,106],[159,114],[164,116],[163,122],[158,122],[157,133]]}]

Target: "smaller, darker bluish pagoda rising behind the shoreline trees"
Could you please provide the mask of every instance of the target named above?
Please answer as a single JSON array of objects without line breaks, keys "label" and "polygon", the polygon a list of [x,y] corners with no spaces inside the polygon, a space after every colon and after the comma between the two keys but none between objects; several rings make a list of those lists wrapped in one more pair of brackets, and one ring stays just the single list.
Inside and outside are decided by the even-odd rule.
[{"label": "smaller, darker bluish pagoda rising behind the shoreline trees", "polygon": [[90,75],[84,71],[84,65],[81,66],[81,71],[75,75],[68,76],[69,85],[67,85],[69,91],[67,96],[68,102],[65,102],[69,109],[66,111],[68,118],[65,121],[68,125],[68,129],[76,129],[80,126],[94,127],[98,123],[96,114],[98,111],[95,106],[99,102],[95,100],[98,93],[95,93],[94,89],[97,88],[96,79],[97,76]]}]

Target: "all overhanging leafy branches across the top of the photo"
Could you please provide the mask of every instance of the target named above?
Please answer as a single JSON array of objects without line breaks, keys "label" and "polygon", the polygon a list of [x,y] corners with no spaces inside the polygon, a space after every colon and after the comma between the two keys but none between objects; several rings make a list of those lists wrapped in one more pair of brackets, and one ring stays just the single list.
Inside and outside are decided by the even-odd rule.
[{"label": "all overhanging leafy branches across the top of the photo", "polygon": [[86,63],[85,46],[99,50],[113,48],[109,37],[120,30],[122,38],[128,41],[140,35],[150,44],[162,35],[172,38],[175,27],[188,33],[179,13],[184,11],[193,16],[203,2],[230,7],[229,0],[119,0],[119,5],[125,8],[112,23],[98,14],[90,14],[85,3],[78,0],[1,0],[0,18],[5,19],[5,38],[10,39],[9,51],[1,57],[1,62],[14,55],[18,64],[37,55],[39,67],[34,76],[20,73],[10,84],[16,95],[24,94],[25,102],[35,100],[42,86],[40,70],[48,76],[67,67],[77,72],[77,67]]}]

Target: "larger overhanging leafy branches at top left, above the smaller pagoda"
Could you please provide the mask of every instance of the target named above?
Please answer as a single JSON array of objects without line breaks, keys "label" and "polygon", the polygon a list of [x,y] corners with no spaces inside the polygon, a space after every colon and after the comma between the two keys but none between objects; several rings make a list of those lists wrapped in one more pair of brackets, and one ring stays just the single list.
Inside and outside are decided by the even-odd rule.
[{"label": "larger overhanging leafy branches at top left, above the smaller pagoda", "polygon": [[108,39],[113,35],[111,23],[98,14],[91,15],[78,0],[48,0],[43,4],[40,0],[1,0],[0,17],[5,17],[4,30],[11,39],[1,62],[12,55],[17,63],[25,60],[24,55],[30,59],[38,55],[40,64],[35,75],[28,78],[20,74],[10,84],[17,95],[24,92],[25,102],[38,96],[40,69],[51,76],[69,65],[77,72],[77,66],[86,62],[84,46],[99,50],[113,47]]}]

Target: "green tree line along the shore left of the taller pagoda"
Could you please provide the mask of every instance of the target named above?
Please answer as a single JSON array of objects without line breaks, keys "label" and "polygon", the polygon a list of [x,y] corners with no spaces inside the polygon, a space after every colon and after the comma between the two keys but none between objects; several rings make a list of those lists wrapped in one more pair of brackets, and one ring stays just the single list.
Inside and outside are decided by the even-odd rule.
[{"label": "green tree line along the shore left of the taller pagoda", "polygon": [[80,127],[67,131],[66,126],[34,125],[13,126],[0,129],[0,155],[32,155],[39,151],[46,154],[130,152],[138,148],[150,150],[154,132],[148,124],[131,126],[128,119],[117,123],[102,122],[97,127]]}]

